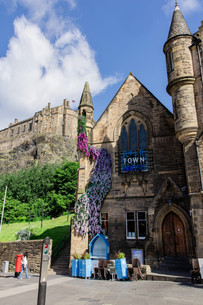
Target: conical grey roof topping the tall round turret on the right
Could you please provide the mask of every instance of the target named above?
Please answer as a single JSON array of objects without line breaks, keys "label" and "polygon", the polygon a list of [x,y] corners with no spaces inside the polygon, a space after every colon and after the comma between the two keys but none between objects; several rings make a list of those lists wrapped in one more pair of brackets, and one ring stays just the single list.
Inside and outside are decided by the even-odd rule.
[{"label": "conical grey roof topping the tall round turret on the right", "polygon": [[184,17],[176,2],[167,40],[169,40],[170,38],[176,35],[181,35],[181,34],[191,35],[191,31],[189,30],[187,23],[185,22]]}]

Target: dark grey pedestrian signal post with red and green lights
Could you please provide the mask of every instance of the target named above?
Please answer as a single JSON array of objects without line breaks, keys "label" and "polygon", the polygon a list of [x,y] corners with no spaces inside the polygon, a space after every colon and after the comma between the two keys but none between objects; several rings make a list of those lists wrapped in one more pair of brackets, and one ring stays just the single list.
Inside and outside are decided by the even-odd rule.
[{"label": "dark grey pedestrian signal post with red and green lights", "polygon": [[37,305],[45,305],[47,289],[47,267],[49,262],[49,244],[50,237],[45,237],[42,242],[42,255],[40,266],[40,280],[38,289]]}]

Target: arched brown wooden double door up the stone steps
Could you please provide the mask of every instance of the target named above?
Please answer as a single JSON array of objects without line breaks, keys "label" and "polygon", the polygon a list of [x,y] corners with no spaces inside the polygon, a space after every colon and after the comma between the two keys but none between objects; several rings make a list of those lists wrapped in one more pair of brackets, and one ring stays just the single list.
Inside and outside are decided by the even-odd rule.
[{"label": "arched brown wooden double door up the stone steps", "polygon": [[168,213],[162,223],[164,256],[187,257],[185,228],[180,217]]}]

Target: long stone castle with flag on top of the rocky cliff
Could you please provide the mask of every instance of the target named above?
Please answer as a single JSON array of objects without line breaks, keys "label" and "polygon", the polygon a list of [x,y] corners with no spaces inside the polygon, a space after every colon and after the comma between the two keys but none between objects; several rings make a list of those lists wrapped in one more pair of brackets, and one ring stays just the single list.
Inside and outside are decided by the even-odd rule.
[{"label": "long stone castle with flag on top of the rocky cliff", "polygon": [[67,138],[77,138],[78,113],[70,108],[69,101],[51,108],[51,103],[36,112],[33,117],[18,122],[15,119],[8,128],[0,131],[0,151],[13,149],[32,135],[53,133]]}]

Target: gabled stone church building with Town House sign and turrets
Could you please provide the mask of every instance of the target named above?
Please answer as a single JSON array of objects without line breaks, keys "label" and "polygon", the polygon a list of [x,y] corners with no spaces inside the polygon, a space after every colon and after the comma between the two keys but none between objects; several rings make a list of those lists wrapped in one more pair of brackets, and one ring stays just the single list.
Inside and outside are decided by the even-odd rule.
[{"label": "gabled stone church building with Town House sign and turrets", "polygon": [[[112,186],[100,210],[111,258],[142,249],[145,264],[164,257],[203,259],[203,21],[191,34],[176,5],[163,47],[173,114],[130,72],[99,120],[86,83],[79,114],[89,144],[109,150]],[[91,87],[91,84],[90,84]],[[76,200],[94,161],[79,154]],[[72,228],[71,253],[88,249]]]}]

